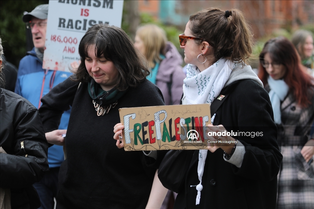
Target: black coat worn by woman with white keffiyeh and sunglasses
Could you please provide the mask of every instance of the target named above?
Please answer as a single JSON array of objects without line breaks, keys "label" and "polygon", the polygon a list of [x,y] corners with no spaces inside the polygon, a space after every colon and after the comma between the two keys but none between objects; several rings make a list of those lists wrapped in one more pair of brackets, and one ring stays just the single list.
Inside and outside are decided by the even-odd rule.
[{"label": "black coat worn by woman with white keffiyeh and sunglasses", "polygon": [[198,185],[198,150],[185,151],[191,159],[181,183],[175,208],[275,208],[277,174],[282,155],[276,141],[268,93],[252,80],[236,81],[220,94],[232,91],[216,112],[213,125],[227,131],[263,132],[263,136],[234,137],[245,146],[241,168],[223,159],[223,150],[208,151],[203,173],[200,204],[195,205]]}]

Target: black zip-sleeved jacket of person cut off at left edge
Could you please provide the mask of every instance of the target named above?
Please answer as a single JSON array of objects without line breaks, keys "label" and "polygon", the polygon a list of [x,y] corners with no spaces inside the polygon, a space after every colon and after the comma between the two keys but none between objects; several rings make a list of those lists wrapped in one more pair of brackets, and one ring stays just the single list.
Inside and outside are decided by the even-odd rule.
[{"label": "black zip-sleeved jacket of person cut off at left edge", "polygon": [[49,169],[48,143],[38,110],[25,98],[1,88],[0,123],[0,144],[7,153],[0,154],[0,187],[11,189],[12,209],[38,208],[40,201],[32,184]]}]

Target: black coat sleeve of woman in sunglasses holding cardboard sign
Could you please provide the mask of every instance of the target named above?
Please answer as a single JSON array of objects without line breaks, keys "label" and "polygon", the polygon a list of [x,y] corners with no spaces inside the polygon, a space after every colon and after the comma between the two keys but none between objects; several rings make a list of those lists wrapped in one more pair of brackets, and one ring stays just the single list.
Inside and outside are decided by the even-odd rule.
[{"label": "black coat sleeve of woman in sunglasses holding cardboard sign", "polygon": [[[232,118],[237,118],[239,132],[234,137],[245,147],[241,168],[232,165],[236,175],[253,180],[270,181],[277,178],[282,154],[277,144],[277,126],[273,122],[273,109],[267,92],[252,80],[241,82],[232,94]],[[249,134],[247,132],[250,132]],[[254,135],[257,132],[259,136]]]}]

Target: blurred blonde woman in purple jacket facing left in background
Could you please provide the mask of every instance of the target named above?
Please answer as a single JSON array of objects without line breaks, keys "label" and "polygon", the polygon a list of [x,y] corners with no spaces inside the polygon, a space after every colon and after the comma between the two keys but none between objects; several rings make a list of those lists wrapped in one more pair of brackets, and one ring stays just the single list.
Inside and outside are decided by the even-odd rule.
[{"label": "blurred blonde woman in purple jacket facing left in background", "polygon": [[153,24],[144,25],[136,32],[134,46],[146,57],[151,68],[147,79],[160,88],[165,104],[179,104],[186,77],[183,60],[176,47],[167,42],[165,31]]}]

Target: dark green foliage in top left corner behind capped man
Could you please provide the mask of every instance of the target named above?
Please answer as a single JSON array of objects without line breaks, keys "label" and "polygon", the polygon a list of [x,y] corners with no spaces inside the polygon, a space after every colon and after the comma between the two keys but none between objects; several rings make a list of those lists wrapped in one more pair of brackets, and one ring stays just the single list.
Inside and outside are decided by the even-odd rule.
[{"label": "dark green foliage in top left corner behind capped man", "polygon": [[4,55],[12,64],[19,66],[19,60],[26,53],[26,27],[22,21],[23,12],[32,11],[48,0],[0,1],[0,35]]}]

